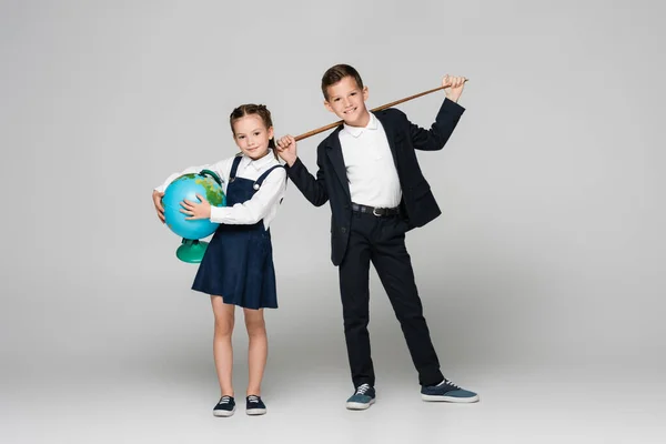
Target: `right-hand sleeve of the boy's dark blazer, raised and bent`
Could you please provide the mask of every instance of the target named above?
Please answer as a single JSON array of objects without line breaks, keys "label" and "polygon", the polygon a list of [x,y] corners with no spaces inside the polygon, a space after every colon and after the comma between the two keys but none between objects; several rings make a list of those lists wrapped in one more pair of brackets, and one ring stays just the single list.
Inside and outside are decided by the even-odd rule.
[{"label": "right-hand sleeve of the boy's dark blazer, raised and bent", "polygon": [[435,122],[431,125],[430,130],[425,130],[407,121],[410,138],[414,149],[436,151],[444,148],[464,112],[465,109],[463,107],[452,100],[444,99]]}]

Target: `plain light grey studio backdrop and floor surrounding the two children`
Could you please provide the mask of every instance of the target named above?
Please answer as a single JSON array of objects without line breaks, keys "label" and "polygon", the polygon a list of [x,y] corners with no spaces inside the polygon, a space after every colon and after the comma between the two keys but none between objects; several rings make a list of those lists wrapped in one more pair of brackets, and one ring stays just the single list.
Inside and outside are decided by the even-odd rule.
[{"label": "plain light grey studio backdrop and floor surrounding the two children", "polygon": [[[663,437],[656,1],[1,4],[3,442],[391,442],[440,426],[456,442]],[[420,154],[444,214],[407,242],[444,373],[482,403],[418,400],[373,271],[384,397],[365,416],[344,411],[330,210],[291,185],[272,228],[271,412],[261,426],[242,410],[221,423],[210,415],[210,302],[189,290],[195,266],[175,259],[179,239],[159,223],[151,189],[232,155],[228,117],[240,103],[265,103],[279,135],[334,121],[319,82],[340,62],[360,70],[370,108],[445,73],[471,79],[448,144]],[[430,127],[443,97],[398,108]],[[299,145],[312,172],[324,135]],[[242,397],[241,312],[234,344]],[[319,407],[304,408],[313,398]]]}]

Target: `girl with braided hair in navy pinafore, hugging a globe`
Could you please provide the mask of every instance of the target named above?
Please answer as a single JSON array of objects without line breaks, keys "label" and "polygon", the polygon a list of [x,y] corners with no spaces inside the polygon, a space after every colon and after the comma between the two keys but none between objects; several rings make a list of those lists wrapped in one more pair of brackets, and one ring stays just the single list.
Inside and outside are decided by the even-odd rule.
[{"label": "girl with braided hair in navy pinafore, hugging a globe", "polygon": [[232,387],[233,353],[231,333],[234,309],[243,307],[250,337],[245,407],[249,415],[261,415],[266,406],[261,398],[261,381],[268,356],[263,309],[276,309],[275,270],[271,245],[271,222],[282,202],[286,173],[278,161],[271,113],[262,104],[244,104],[231,113],[231,130],[241,152],[213,165],[189,168],[170,175],[153,190],[158,216],[164,222],[161,198],[167,186],[182,174],[211,170],[222,179],[225,208],[201,202],[181,203],[186,219],[210,219],[220,223],[199,265],[192,290],[211,295],[215,317],[213,357],[221,397],[213,414],[231,416],[235,412]]}]

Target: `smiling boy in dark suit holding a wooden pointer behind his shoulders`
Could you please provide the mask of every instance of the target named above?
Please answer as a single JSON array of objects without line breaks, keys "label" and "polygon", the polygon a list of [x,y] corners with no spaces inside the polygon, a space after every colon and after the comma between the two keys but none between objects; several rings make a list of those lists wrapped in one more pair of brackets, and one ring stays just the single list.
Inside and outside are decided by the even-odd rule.
[{"label": "smiling boy in dark suit holding a wooden pointer behind his shoulders", "polygon": [[476,402],[476,393],[446,380],[423,317],[405,233],[441,214],[423,178],[414,150],[441,150],[464,108],[456,102],[464,79],[446,75],[450,84],[430,130],[387,109],[365,108],[367,87],[347,65],[330,68],[322,77],[324,105],[344,122],[317,147],[316,179],[296,157],[291,135],[278,143],[289,178],[315,206],[331,204],[331,260],[339,266],[344,334],[354,394],[350,410],[364,410],[375,401],[374,370],[367,332],[369,273],[372,261],[401,323],[412,361],[418,372],[424,401]]}]

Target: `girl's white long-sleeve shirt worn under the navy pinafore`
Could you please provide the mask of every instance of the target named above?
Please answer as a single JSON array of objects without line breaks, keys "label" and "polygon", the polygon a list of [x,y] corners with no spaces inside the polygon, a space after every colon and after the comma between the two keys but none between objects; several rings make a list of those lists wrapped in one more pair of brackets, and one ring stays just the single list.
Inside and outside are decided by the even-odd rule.
[{"label": "girl's white long-sleeve shirt worn under the navy pinafore", "polygon": [[[222,190],[226,194],[229,175],[234,159],[235,155],[210,165],[190,167],[181,172],[171,174],[167,178],[164,183],[157,186],[155,190],[164,192],[171,182],[183,174],[198,173],[201,170],[211,170],[222,180]],[[254,181],[266,170],[279,164],[280,162],[275,160],[272,151],[269,151],[266,155],[258,160],[252,160],[251,158],[243,155],[235,176]],[[264,228],[268,230],[278,214],[278,208],[284,198],[285,188],[286,172],[283,168],[278,168],[264,179],[259,191],[256,191],[249,201],[236,203],[233,206],[220,208],[211,205],[210,221],[228,224],[253,224],[263,219]]]}]

